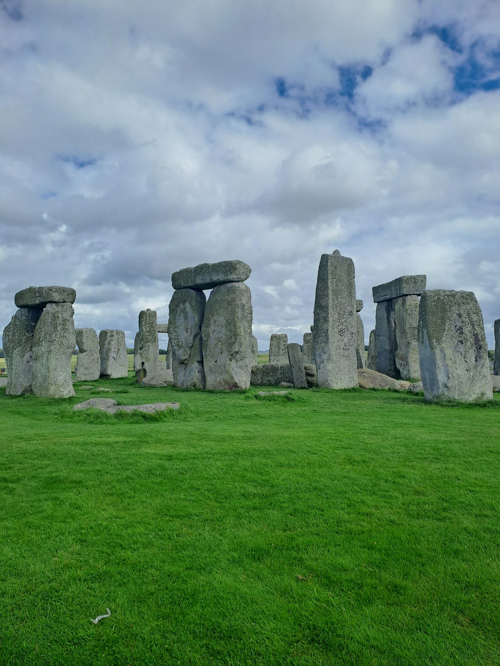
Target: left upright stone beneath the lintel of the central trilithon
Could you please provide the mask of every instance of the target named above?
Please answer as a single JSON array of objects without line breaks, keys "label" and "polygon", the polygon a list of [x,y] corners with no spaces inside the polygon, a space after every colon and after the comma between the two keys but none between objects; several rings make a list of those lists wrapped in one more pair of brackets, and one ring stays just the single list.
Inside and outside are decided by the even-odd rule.
[{"label": "left upright stone beneath the lintel of the central trilithon", "polygon": [[169,305],[169,344],[175,386],[205,388],[201,325],[207,300],[202,291],[179,289]]}]

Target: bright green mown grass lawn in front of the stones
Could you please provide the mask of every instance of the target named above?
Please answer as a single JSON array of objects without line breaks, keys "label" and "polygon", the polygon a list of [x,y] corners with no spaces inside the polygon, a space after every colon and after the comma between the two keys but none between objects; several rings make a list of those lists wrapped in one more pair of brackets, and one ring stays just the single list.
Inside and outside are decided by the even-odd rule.
[{"label": "bright green mown grass lawn in front of the stones", "polygon": [[2,665],[500,663],[498,394],[95,384],[0,388]]}]

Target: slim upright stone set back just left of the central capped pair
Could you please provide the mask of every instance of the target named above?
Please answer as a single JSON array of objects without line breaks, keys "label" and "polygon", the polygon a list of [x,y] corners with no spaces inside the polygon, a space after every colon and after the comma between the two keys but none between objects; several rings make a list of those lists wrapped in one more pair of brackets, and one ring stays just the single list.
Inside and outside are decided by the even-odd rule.
[{"label": "slim upright stone set back just left of the central capped pair", "polygon": [[167,386],[167,366],[160,363],[155,310],[139,312],[139,331],[134,342],[134,372],[138,384]]}]

